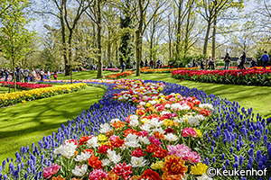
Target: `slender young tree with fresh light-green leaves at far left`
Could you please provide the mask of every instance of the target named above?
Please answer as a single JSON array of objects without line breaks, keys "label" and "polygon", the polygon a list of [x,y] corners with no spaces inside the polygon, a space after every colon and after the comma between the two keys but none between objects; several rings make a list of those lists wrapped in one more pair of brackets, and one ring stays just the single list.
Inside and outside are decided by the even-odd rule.
[{"label": "slender young tree with fresh light-green leaves at far left", "polygon": [[[8,5],[7,5],[8,4]],[[33,32],[25,29],[25,25],[30,22],[27,19],[26,8],[30,6],[27,0],[6,1],[6,4],[0,4],[1,9],[9,6],[1,14],[0,28],[0,46],[5,54],[5,58],[10,62],[13,70],[27,53]],[[16,78],[14,73],[14,91],[16,91]]]}]

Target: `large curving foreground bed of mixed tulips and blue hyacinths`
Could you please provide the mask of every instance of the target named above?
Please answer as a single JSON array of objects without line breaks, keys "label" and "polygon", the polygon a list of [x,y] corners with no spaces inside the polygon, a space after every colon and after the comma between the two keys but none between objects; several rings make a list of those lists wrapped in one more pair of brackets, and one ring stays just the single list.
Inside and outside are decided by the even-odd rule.
[{"label": "large curving foreground bed of mixed tulips and blue hyacinths", "polygon": [[209,167],[267,169],[266,176],[228,179],[271,176],[271,119],[252,108],[165,82],[103,79],[74,85],[81,82],[103,85],[107,93],[67,126],[22,147],[15,159],[7,157],[0,179],[203,180],[211,179]]}]

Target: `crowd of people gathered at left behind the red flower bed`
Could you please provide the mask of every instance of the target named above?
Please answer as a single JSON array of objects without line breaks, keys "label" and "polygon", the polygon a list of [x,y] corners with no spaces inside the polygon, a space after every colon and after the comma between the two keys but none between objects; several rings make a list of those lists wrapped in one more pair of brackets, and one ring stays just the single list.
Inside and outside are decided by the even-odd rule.
[{"label": "crowd of people gathered at left behind the red flower bed", "polygon": [[[29,70],[27,67],[24,69],[22,67],[16,67],[14,69],[2,67],[0,69],[0,77],[5,78],[6,82],[9,76],[11,76],[11,81],[14,81],[15,78],[16,82],[28,83],[29,81],[34,82],[36,80],[43,80],[45,76],[47,79],[50,79],[51,73],[49,69],[45,73],[43,69],[33,68],[32,70]],[[57,71],[54,71],[53,78],[57,79],[57,76]]]}]

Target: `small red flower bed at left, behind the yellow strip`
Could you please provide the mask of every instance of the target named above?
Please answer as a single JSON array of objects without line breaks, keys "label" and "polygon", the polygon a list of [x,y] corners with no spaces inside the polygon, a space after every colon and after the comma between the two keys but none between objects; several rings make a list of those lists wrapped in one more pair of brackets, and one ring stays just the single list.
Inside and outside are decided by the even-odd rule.
[{"label": "small red flower bed at left, behind the yellow strip", "polygon": [[[10,87],[14,88],[14,82],[0,81],[0,86],[5,86],[5,87],[10,86]],[[18,89],[23,89],[23,90],[36,89],[36,88],[42,88],[42,87],[50,87],[50,86],[51,85],[16,82],[16,87]]]}]

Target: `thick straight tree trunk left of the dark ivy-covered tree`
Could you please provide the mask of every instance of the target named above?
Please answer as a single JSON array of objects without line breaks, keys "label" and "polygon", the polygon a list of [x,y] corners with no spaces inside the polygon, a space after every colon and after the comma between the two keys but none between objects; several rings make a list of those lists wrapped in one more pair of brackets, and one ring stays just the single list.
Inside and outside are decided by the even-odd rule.
[{"label": "thick straight tree trunk left of the dark ivy-covered tree", "polygon": [[101,6],[101,0],[98,0],[97,3],[97,45],[98,45],[98,73],[97,73],[97,78],[103,78],[103,61],[102,61],[102,45],[101,45],[101,11],[100,11],[100,6]]}]

